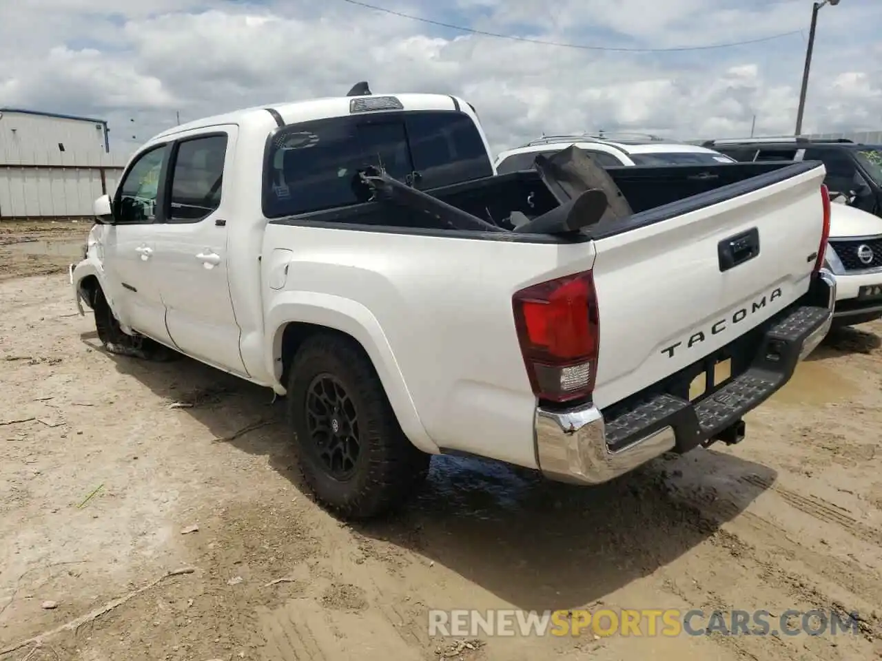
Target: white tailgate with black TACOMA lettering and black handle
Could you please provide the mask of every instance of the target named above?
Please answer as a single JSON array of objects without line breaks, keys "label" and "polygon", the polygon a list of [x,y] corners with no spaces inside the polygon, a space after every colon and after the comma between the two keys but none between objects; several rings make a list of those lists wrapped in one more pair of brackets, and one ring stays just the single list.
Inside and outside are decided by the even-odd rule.
[{"label": "white tailgate with black TACOMA lettering and black handle", "polygon": [[[787,167],[594,236],[603,409],[728,345],[809,290],[824,167]],[[765,180],[765,181],[760,181]],[[604,332],[605,328],[615,332]]]}]

